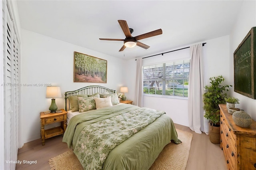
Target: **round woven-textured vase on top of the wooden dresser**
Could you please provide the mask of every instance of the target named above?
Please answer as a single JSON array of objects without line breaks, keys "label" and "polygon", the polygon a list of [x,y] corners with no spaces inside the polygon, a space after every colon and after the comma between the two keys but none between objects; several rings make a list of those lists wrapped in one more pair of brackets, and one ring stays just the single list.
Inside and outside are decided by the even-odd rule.
[{"label": "round woven-textured vase on top of the wooden dresser", "polygon": [[252,124],[252,118],[244,110],[234,112],[232,118],[234,123],[240,127],[249,127]]}]

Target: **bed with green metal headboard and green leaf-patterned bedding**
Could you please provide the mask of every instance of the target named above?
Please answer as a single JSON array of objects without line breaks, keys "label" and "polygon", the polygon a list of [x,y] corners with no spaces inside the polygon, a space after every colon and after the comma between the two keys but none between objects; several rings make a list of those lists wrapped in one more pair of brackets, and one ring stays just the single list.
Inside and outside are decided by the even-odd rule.
[{"label": "bed with green metal headboard and green leaf-patterned bedding", "polygon": [[121,104],[116,91],[106,87],[66,92],[65,109],[70,120],[62,141],[86,170],[147,170],[166,144],[181,142],[163,111]]}]

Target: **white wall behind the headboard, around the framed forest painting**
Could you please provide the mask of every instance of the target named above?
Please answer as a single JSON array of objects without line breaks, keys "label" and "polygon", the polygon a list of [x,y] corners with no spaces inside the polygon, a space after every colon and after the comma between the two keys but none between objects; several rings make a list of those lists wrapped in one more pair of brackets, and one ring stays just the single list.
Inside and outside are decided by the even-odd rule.
[{"label": "white wall behind the headboard, around the framed forest painting", "polygon": [[[74,51],[107,60],[107,83],[74,83]],[[124,61],[74,44],[62,42],[22,29],[22,84],[51,83],[60,86],[62,98],[56,99],[58,109],[64,108],[64,92],[88,85],[102,85],[120,91],[124,76]],[[23,89],[23,142],[40,138],[40,112],[47,111],[51,99],[46,99],[46,87]],[[56,125],[55,125],[56,126]],[[50,126],[46,126],[49,128]]]}]

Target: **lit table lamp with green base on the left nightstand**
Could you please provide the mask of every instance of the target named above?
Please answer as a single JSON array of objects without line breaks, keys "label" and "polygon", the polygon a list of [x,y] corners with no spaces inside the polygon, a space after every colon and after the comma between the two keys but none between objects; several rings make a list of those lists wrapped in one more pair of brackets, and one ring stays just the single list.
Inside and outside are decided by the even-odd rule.
[{"label": "lit table lamp with green base on the left nightstand", "polygon": [[52,98],[52,104],[49,107],[49,110],[51,113],[56,113],[56,110],[58,109],[55,99],[61,97],[60,87],[54,87],[54,86],[48,86],[46,87],[46,98]]}]

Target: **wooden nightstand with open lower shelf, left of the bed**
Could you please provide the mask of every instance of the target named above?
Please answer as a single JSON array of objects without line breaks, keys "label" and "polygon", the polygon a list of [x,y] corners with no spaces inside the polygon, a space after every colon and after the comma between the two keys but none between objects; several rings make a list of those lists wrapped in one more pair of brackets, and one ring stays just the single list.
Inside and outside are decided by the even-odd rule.
[{"label": "wooden nightstand with open lower shelf, left of the bed", "polygon": [[[49,114],[44,114],[44,112],[40,112],[42,145],[44,145],[45,139],[48,139],[60,134],[64,134],[67,128],[68,112],[66,112],[64,109],[61,109],[61,111],[62,113],[49,113]],[[44,125],[48,125],[56,122],[61,122],[61,126],[44,130]]]}]

